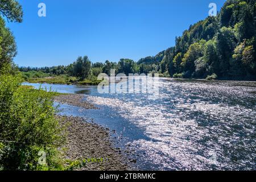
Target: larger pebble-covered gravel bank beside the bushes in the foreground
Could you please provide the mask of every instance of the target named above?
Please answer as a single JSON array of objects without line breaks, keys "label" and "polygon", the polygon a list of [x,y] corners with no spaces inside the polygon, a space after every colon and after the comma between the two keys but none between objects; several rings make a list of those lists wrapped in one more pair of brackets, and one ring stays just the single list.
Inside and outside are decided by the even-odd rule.
[{"label": "larger pebble-covered gravel bank beside the bushes in the foreground", "polygon": [[121,152],[110,142],[109,131],[79,117],[56,116],[68,126],[67,159],[104,159],[103,162],[89,162],[81,170],[128,170],[129,165]]}]

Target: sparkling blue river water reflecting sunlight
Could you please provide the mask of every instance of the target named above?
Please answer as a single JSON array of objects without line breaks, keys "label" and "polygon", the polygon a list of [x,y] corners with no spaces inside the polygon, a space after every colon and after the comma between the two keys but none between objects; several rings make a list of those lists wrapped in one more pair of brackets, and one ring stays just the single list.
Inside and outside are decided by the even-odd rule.
[{"label": "sparkling blue river water reflecting sunlight", "polygon": [[42,87],[84,94],[98,110],[60,105],[61,114],[108,127],[137,169],[256,169],[256,82],[163,78],[159,85],[154,100],[142,93],[100,94],[97,86]]}]

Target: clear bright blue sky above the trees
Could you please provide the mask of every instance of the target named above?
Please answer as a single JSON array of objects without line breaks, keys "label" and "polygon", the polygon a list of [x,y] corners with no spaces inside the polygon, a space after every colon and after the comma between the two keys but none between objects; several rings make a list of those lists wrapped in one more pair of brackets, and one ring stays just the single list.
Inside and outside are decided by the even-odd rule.
[{"label": "clear bright blue sky above the trees", "polygon": [[[7,23],[16,38],[19,66],[68,65],[78,56],[92,62],[153,56],[174,46],[190,24],[225,0],[19,0],[22,23]],[[47,16],[38,16],[46,3]]]}]

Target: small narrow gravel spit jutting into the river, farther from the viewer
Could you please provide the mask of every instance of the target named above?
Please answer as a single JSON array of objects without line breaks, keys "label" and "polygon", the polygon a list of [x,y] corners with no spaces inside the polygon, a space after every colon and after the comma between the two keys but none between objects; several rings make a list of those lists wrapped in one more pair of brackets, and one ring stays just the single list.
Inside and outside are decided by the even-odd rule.
[{"label": "small narrow gravel spit jutting into the river, farther from the viewer", "polygon": [[60,104],[68,104],[78,107],[83,107],[85,109],[97,109],[94,105],[89,102],[83,100],[83,94],[63,94],[60,96],[54,97],[55,102],[59,102]]}]

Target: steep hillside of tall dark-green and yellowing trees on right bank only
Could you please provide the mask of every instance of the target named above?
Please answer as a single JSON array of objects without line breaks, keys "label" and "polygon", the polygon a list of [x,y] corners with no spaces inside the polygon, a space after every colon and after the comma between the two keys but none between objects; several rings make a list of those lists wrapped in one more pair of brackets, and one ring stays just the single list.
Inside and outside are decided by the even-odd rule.
[{"label": "steep hillside of tall dark-green and yellowing trees on right bank only", "polygon": [[[228,0],[164,51],[160,72],[184,78],[256,80],[256,1]],[[157,64],[154,62],[154,64]]]}]

